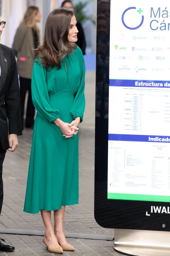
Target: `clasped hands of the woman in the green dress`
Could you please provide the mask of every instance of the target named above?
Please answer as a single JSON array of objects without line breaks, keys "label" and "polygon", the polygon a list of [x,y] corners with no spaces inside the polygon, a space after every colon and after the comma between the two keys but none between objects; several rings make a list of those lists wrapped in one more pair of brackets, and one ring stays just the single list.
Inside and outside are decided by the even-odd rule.
[{"label": "clasped hands of the woman in the green dress", "polygon": [[70,138],[78,132],[79,128],[77,126],[80,123],[80,117],[77,117],[70,124],[63,122],[59,118],[53,120],[53,122],[60,128],[65,138]]}]

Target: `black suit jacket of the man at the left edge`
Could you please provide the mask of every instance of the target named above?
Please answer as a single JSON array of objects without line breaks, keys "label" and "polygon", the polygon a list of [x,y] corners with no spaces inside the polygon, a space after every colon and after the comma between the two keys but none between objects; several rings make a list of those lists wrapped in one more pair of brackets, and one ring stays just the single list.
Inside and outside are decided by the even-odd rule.
[{"label": "black suit jacket of the man at the left edge", "polygon": [[0,142],[7,150],[9,134],[22,134],[17,65],[11,48],[0,44]]}]

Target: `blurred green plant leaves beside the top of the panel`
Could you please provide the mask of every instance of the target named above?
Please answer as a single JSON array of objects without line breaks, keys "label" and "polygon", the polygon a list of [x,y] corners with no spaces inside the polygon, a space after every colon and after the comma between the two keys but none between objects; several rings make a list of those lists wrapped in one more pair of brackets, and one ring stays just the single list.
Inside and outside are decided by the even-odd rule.
[{"label": "blurred green plant leaves beside the top of the panel", "polygon": [[92,2],[92,0],[88,0],[88,1],[83,2],[83,3],[78,2],[78,3],[74,4],[74,13],[75,13],[76,19],[79,22],[83,23],[86,20],[91,20],[93,24],[96,23],[94,18],[90,15],[87,15],[83,10],[91,2]]}]

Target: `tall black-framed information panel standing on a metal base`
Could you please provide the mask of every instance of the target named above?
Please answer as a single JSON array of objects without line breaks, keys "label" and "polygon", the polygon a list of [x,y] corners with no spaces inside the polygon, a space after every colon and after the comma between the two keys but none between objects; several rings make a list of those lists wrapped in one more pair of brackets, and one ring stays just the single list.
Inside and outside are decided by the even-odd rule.
[{"label": "tall black-framed information panel standing on a metal base", "polygon": [[95,219],[168,239],[160,231],[170,231],[169,30],[167,0],[98,2]]}]

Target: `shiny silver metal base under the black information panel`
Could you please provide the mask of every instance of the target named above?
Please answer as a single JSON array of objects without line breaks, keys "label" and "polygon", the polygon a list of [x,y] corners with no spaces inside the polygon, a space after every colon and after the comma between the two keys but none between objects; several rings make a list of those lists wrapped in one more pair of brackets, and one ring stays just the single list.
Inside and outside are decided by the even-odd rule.
[{"label": "shiny silver metal base under the black information panel", "polygon": [[170,232],[115,229],[113,248],[136,256],[169,256]]}]

